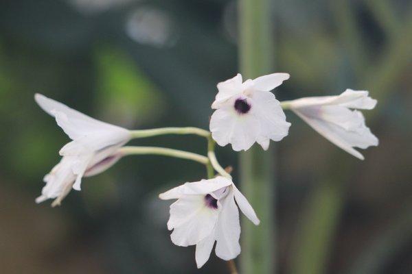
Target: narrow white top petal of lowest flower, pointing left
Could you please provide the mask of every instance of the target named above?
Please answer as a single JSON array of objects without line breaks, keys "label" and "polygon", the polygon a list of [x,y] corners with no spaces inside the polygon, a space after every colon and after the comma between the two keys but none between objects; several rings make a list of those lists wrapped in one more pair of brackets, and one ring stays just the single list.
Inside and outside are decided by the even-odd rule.
[{"label": "narrow white top petal of lowest flower, pointing left", "polygon": [[206,195],[220,188],[225,188],[232,184],[230,179],[218,176],[213,179],[202,179],[200,182],[185,183],[181,186],[176,186],[159,195],[162,200],[179,199],[184,195]]}]

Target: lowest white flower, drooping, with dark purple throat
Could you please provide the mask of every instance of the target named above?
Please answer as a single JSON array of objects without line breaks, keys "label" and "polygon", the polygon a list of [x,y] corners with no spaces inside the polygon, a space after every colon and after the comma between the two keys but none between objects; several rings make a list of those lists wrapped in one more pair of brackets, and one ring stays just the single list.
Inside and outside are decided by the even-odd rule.
[{"label": "lowest white flower, drooping, with dark purple throat", "polygon": [[[216,256],[223,260],[240,253],[239,211],[255,225],[255,211],[230,179],[216,177],[186,183],[159,195],[160,199],[178,199],[170,206],[168,229],[172,242],[181,247],[196,245],[196,264],[201,268],[216,241]],[[236,206],[236,203],[238,206]]]}]

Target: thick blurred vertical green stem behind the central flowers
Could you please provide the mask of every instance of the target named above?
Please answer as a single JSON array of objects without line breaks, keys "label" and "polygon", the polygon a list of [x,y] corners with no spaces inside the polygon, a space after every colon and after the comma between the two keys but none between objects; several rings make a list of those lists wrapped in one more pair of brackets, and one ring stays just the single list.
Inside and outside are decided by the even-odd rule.
[{"label": "thick blurred vertical green stem behind the central flowers", "polygon": [[[244,79],[273,72],[271,0],[239,1],[240,71]],[[242,191],[262,221],[242,223],[241,273],[275,273],[275,164],[273,143],[240,155]]]}]

